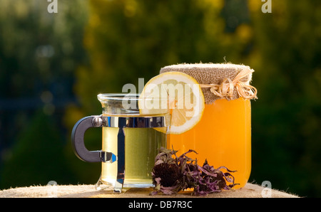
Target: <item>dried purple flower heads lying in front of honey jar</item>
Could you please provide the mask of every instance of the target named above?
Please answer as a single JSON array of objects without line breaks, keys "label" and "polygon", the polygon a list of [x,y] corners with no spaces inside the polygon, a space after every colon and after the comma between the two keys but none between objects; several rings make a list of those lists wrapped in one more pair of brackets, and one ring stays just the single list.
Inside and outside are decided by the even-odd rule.
[{"label": "dried purple flower heads lying in front of honey jar", "polygon": [[[156,156],[155,165],[152,171],[155,191],[151,195],[177,194],[178,191],[194,189],[193,194],[197,196],[229,190],[236,184],[234,177],[225,166],[214,169],[205,160],[203,166],[199,166],[196,159],[187,157],[186,154],[195,152],[190,149],[188,152],[176,156],[175,150],[161,148]],[[195,152],[197,154],[197,152]],[[223,172],[220,169],[225,169]],[[229,185],[226,183],[230,183]]]}]

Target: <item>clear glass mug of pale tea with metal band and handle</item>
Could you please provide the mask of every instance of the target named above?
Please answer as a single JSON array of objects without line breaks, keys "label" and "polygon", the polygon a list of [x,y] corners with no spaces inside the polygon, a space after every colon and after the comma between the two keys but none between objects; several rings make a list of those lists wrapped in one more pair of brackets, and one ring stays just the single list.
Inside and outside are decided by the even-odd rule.
[{"label": "clear glass mug of pale tea with metal band and handle", "polygon": [[[121,192],[123,187],[153,186],[151,171],[155,157],[161,147],[166,147],[168,110],[142,115],[137,94],[100,94],[98,100],[103,107],[102,115],[83,117],[73,127],[71,140],[76,156],[83,161],[101,162],[96,187],[112,185],[114,191]],[[89,151],[85,147],[83,137],[91,127],[102,127],[101,150]]]}]

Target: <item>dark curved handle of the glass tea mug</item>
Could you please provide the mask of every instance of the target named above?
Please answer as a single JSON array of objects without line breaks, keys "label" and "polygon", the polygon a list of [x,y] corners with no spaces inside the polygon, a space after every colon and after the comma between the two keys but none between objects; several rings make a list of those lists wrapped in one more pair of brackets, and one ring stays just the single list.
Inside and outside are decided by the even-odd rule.
[{"label": "dark curved handle of the glass tea mug", "polygon": [[103,119],[101,116],[88,116],[83,117],[76,122],[73,126],[71,133],[71,142],[73,146],[73,152],[76,156],[87,162],[110,162],[116,161],[116,155],[111,152],[104,152],[102,150],[89,151],[84,144],[83,137],[87,129],[91,127],[103,127]]}]

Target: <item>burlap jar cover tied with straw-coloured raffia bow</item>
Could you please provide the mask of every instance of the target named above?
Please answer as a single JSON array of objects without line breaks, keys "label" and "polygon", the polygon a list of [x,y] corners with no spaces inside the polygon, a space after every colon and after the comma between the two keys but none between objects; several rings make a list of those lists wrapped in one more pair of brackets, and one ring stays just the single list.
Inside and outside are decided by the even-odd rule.
[{"label": "burlap jar cover tied with straw-coloured raffia bow", "polygon": [[160,73],[178,71],[195,78],[202,88],[205,104],[225,98],[257,99],[258,90],[250,85],[252,73],[248,65],[232,63],[182,63],[161,68]]}]

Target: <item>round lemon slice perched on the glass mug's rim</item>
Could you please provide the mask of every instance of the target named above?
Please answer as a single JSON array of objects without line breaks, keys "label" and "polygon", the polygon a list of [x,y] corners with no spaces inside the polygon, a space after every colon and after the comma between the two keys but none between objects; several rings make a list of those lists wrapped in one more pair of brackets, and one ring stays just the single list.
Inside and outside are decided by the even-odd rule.
[{"label": "round lemon slice perched on the glass mug's rim", "polygon": [[203,92],[190,75],[167,72],[146,83],[138,100],[142,115],[170,113],[170,134],[182,134],[200,121],[205,107]]}]

